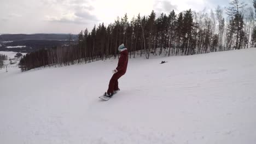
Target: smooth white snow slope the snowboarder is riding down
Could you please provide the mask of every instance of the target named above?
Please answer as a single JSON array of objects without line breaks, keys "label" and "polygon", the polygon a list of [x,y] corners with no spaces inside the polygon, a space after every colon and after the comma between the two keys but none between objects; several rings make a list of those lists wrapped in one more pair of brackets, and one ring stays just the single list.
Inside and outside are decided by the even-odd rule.
[{"label": "smooth white snow slope the snowboarder is riding down", "polygon": [[117,62],[0,70],[0,143],[255,143],[256,49],[137,56],[102,101]]}]

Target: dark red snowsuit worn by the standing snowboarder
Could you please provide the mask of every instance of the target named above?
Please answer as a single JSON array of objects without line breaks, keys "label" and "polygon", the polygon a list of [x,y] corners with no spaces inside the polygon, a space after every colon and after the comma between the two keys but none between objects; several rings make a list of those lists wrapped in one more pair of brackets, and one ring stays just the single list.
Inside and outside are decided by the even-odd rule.
[{"label": "dark red snowsuit worn by the standing snowboarder", "polygon": [[118,79],[126,73],[128,64],[128,51],[124,50],[120,52],[120,58],[118,60],[117,73],[113,74],[109,81],[107,93],[113,93],[118,90]]}]

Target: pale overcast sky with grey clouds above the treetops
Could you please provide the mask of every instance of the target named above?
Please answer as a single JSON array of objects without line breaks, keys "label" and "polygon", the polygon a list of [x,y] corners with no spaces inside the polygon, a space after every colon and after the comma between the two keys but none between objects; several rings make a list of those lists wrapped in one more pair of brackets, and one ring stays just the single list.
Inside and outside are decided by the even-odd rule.
[{"label": "pale overcast sky with grey clouds above the treetops", "polygon": [[[252,4],[252,0],[244,0]],[[0,33],[72,33],[114,22],[127,13],[168,14],[172,9],[200,11],[229,5],[229,0],[0,0]],[[250,6],[251,7],[251,6]]]}]

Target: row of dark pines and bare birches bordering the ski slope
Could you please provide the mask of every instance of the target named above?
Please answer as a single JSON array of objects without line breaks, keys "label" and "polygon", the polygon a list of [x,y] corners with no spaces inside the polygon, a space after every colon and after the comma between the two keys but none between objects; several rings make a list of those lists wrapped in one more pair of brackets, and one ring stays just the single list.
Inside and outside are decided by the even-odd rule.
[{"label": "row of dark pines and bare birches bordering the ski slope", "polygon": [[[253,1],[254,9],[256,0]],[[46,65],[70,65],[118,57],[117,47],[125,44],[129,57],[156,55],[194,55],[245,49],[255,46],[256,27],[253,8],[232,0],[228,8],[176,14],[154,10],[148,16],[138,14],[128,21],[127,14],[105,26],[100,23],[91,32],[86,28],[77,41],[28,53],[20,61],[22,71]],[[256,11],[256,9],[255,9]],[[228,15],[224,18],[224,13]],[[70,38],[72,39],[72,38]]]}]

